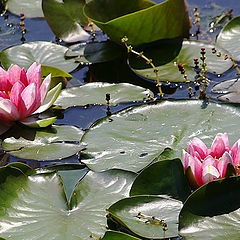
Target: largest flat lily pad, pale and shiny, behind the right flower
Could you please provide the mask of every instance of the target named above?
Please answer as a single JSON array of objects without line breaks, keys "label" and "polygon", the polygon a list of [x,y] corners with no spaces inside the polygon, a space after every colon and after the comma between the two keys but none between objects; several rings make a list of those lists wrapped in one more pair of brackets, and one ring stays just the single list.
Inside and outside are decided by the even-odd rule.
[{"label": "largest flat lily pad, pale and shiny, behind the right flower", "polygon": [[210,145],[217,133],[226,132],[233,144],[240,138],[236,131],[239,121],[239,109],[226,104],[193,100],[132,107],[86,131],[84,152],[91,158],[82,162],[95,171],[140,171],[166,147],[175,150],[171,158],[181,158],[182,149],[194,137]]}]

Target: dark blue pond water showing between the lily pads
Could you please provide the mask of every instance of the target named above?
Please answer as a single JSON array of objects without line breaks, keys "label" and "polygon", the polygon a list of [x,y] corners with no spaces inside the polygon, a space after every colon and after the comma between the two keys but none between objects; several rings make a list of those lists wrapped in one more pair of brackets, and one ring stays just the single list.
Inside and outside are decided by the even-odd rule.
[{"label": "dark blue pond water showing between the lily pads", "polygon": [[[155,0],[155,2],[162,2],[161,0]],[[199,35],[200,40],[205,40],[208,42],[214,42],[216,35],[219,33],[220,29],[215,32],[209,31],[209,23],[212,21],[212,18],[218,15],[221,15],[224,11],[227,12],[230,9],[233,9],[233,16],[240,15],[240,5],[237,4],[236,0],[188,0],[189,6],[189,15],[192,19],[193,9],[197,7],[200,12],[201,18],[201,34]],[[22,39],[22,32],[20,28],[20,19],[19,16],[13,15],[11,13],[6,13],[0,17],[0,50],[3,50],[7,47],[10,47],[15,44],[20,44],[21,42],[32,42],[32,41],[52,41],[59,44],[64,44],[56,39],[55,35],[52,33],[48,24],[43,18],[26,18],[25,27],[27,29],[24,39]],[[194,32],[196,29],[194,26],[191,30]],[[101,35],[98,36],[101,39]],[[105,36],[102,37],[105,39]],[[120,67],[121,66],[121,67]],[[114,69],[114,71],[109,71],[109,69]],[[121,69],[121,70],[120,70]],[[124,71],[122,71],[124,69]],[[111,81],[119,82],[121,79],[125,79],[127,82],[136,82],[138,81],[139,85],[148,87],[152,90],[155,90],[155,84],[153,82],[146,81],[138,76],[136,76],[129,68],[127,63],[123,63],[121,60],[102,63],[102,64],[93,64],[91,66],[79,66],[79,68],[71,73],[74,77],[70,82],[71,85],[79,85],[85,82],[89,82],[92,79],[92,76],[97,76],[98,81]],[[212,85],[218,81],[223,81],[225,79],[234,78],[236,72],[229,70],[224,73],[222,76],[209,75],[211,78]],[[165,98],[188,98],[188,91],[184,84],[164,84],[164,91],[166,92]],[[110,112],[114,113],[123,108],[126,108],[132,104],[119,104],[116,107],[110,107]],[[106,106],[85,106],[85,107],[75,107],[69,108],[65,111],[64,117],[58,119],[56,124],[71,124],[78,126],[82,129],[89,128],[96,120],[105,117],[107,115]],[[9,156],[8,156],[9,157]],[[6,160],[6,157],[2,160],[2,164],[10,161],[24,161],[29,163],[33,167],[42,167],[49,164],[58,163],[58,161],[51,162],[36,162],[36,161],[25,161],[24,159],[18,159],[13,156],[10,156]],[[79,156],[75,155],[61,161],[62,163],[78,163]]]}]

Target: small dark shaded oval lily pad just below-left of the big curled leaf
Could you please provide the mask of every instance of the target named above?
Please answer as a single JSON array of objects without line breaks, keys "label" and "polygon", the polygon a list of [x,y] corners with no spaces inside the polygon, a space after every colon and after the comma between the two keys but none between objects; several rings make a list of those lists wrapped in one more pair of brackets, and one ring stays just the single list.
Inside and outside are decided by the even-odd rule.
[{"label": "small dark shaded oval lily pad just below-left of the big curled leaf", "polygon": [[75,61],[81,63],[101,63],[119,57],[123,49],[122,46],[112,41],[78,43],[69,47],[65,57],[74,57]]}]

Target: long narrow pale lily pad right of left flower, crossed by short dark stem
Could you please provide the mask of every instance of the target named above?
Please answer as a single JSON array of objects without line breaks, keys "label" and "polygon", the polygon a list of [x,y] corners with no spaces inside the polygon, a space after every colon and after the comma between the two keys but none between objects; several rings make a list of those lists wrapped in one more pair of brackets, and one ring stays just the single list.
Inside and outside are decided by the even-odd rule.
[{"label": "long narrow pale lily pad right of left flower, crossed by short dark stem", "polygon": [[63,89],[55,104],[62,108],[87,104],[106,104],[106,94],[110,93],[110,104],[120,102],[143,101],[148,95],[153,96],[150,90],[128,83],[87,83],[82,86]]}]

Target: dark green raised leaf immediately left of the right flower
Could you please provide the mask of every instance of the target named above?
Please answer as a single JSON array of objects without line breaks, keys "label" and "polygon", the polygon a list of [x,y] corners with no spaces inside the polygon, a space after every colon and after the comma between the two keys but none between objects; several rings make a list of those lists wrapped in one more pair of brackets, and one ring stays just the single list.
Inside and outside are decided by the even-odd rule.
[{"label": "dark green raised leaf immediately left of the right flower", "polygon": [[145,168],[134,181],[130,196],[168,195],[184,202],[190,193],[182,163],[173,159]]}]

